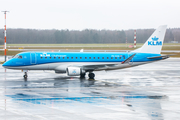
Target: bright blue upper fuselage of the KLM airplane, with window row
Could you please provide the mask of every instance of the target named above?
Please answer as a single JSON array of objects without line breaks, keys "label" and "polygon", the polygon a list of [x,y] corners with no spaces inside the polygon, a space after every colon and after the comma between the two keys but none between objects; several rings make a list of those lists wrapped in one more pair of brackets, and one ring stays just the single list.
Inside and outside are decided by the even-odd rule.
[{"label": "bright blue upper fuselage of the KLM airplane, with window row", "polygon": [[[12,69],[33,69],[31,66],[36,66],[35,70],[49,69],[54,70],[59,64],[82,64],[82,65],[96,65],[96,64],[109,64],[109,63],[121,63],[125,61],[132,54],[131,52],[125,53],[88,53],[88,52],[23,52],[17,54],[15,57],[3,64],[3,67]],[[145,63],[161,60],[148,59],[147,57],[160,56],[160,54],[149,54],[149,53],[136,53],[133,59],[130,61],[132,63]],[[51,64],[56,66],[52,67]],[[42,67],[48,65],[47,67]],[[31,68],[30,68],[31,67]]]}]

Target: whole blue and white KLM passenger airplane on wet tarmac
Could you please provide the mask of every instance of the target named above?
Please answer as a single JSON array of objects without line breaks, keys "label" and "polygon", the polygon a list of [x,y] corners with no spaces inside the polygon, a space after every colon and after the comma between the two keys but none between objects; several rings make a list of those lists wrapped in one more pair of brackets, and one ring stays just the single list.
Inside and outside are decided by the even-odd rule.
[{"label": "whole blue and white KLM passenger airplane on wet tarmac", "polygon": [[27,78],[29,70],[54,70],[68,76],[94,79],[94,71],[116,70],[169,58],[161,55],[167,25],[159,26],[145,44],[131,52],[22,52],[5,62],[7,69],[22,70]]}]

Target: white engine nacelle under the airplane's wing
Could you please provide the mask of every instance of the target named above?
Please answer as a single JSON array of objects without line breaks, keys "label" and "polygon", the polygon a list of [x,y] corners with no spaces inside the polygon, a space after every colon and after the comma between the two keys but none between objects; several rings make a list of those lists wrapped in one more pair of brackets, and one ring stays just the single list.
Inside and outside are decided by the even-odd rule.
[{"label": "white engine nacelle under the airplane's wing", "polygon": [[79,67],[68,67],[67,75],[69,76],[79,76],[82,73],[81,68]]}]

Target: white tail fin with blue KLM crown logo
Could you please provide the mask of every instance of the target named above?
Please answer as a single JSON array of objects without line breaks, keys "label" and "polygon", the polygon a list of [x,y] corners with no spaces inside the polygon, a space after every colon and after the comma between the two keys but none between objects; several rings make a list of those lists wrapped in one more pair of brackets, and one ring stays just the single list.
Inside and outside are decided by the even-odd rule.
[{"label": "white tail fin with blue KLM crown logo", "polygon": [[159,26],[158,29],[149,37],[145,44],[132,52],[136,53],[155,53],[160,54],[167,25]]}]

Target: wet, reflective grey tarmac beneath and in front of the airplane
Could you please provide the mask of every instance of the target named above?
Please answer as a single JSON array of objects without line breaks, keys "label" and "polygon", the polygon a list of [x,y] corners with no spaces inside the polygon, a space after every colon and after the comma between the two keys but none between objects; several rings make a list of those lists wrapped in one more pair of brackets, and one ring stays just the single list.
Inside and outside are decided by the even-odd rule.
[{"label": "wet, reflective grey tarmac beneath and in front of the airplane", "polygon": [[0,66],[0,120],[180,119],[180,59],[114,71],[95,80]]}]

